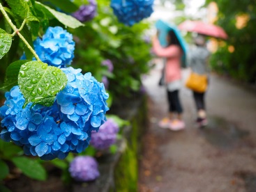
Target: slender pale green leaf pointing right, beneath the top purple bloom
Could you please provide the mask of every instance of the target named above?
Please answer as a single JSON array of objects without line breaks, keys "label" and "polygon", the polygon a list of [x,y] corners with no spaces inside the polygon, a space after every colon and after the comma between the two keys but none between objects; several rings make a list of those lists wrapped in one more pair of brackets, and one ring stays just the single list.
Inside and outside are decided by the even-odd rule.
[{"label": "slender pale green leaf pointing right, beneath the top purple bloom", "polygon": [[45,11],[48,11],[51,16],[58,19],[59,22],[61,22],[65,26],[68,26],[68,27],[73,28],[73,29],[75,29],[79,26],[84,26],[84,24],[82,24],[80,21],[75,19],[75,17],[72,17],[70,15],[66,15],[65,13],[60,13],[59,11],[56,11],[56,10],[54,10],[54,9],[48,7],[48,6],[45,6],[44,4],[39,3],[38,1],[36,1],[36,6],[38,6],[38,9],[43,9]]}]

